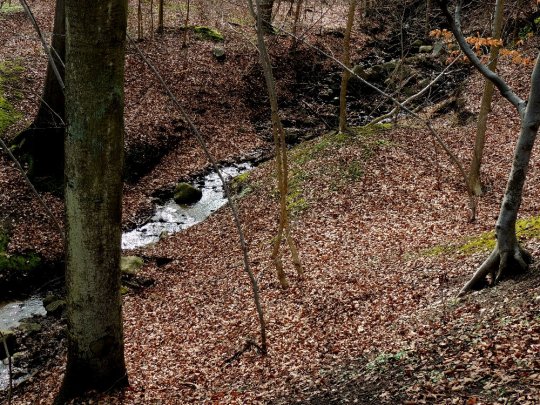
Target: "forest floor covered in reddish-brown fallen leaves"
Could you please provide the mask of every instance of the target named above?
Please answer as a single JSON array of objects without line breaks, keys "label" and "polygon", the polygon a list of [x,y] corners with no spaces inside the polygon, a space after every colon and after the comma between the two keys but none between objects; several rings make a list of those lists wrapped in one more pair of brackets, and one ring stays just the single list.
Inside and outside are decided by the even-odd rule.
[{"label": "forest floor covered in reddish-brown fallen leaves", "polygon": [[[50,30],[52,2],[34,3],[44,30]],[[45,61],[22,13],[0,18],[0,60],[16,57],[24,65],[23,97],[15,106],[26,121],[13,126],[14,134],[35,111],[32,100]],[[252,119],[258,114],[253,104],[264,100],[261,84],[251,79],[257,77],[256,54],[242,35],[227,35],[234,39],[226,43],[223,64],[213,60],[211,42],[194,41],[182,50],[179,31],[140,43],[159,61],[220,161],[269,149]],[[364,40],[358,35],[356,44]],[[533,39],[524,52],[534,53],[534,44]],[[273,52],[285,55],[289,45],[276,39]],[[522,97],[530,71],[506,62],[500,67]],[[129,229],[146,217],[156,190],[207,163],[132,50],[126,73],[126,148],[135,172],[125,186]],[[293,77],[284,73],[279,80],[280,94],[293,106],[294,96],[287,95]],[[472,74],[462,94],[473,114],[481,92],[482,80]],[[468,161],[474,122],[457,125],[450,112],[433,124]],[[487,232],[498,214],[519,131],[515,111],[495,97],[483,167],[489,191],[479,200],[474,223],[467,221],[467,197],[455,168],[418,122],[407,119],[349,135],[316,125],[313,130],[326,133],[290,150],[289,205],[305,274],[295,275],[286,253],[289,289],[279,287],[270,260],[278,212],[271,161],[247,176],[250,192],[238,199],[260,284],[268,355],[251,348],[235,356],[246,342],[259,341],[259,325],[225,208],[152,247],[126,252],[144,256],[141,274],[155,280],[124,296],[130,386],[77,403],[539,403],[537,265],[519,279],[455,298],[492,243]],[[137,161],[153,163],[137,166]],[[58,260],[60,238],[46,214],[4,155],[0,167],[0,208],[13,229],[10,249],[32,249]],[[522,241],[537,258],[539,186],[534,155],[520,224]],[[42,195],[61,218],[61,200]],[[15,404],[52,402],[65,364],[65,341],[57,332],[54,336],[59,339],[54,356],[16,389]]]}]

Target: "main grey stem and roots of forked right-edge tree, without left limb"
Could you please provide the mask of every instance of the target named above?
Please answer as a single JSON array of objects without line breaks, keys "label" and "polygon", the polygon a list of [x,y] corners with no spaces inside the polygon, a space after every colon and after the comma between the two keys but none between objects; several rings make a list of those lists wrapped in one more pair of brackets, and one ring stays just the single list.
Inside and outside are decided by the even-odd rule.
[{"label": "main grey stem and roots of forked right-edge tree, without left limb", "polygon": [[521,120],[521,131],[514,150],[512,171],[501,204],[495,227],[497,246],[486,261],[476,271],[472,279],[462,288],[460,295],[484,284],[488,274],[493,283],[527,270],[531,263],[530,254],[519,245],[516,237],[516,220],[523,195],[523,185],[529,167],[531,151],[540,126],[540,55],[536,59],[531,92],[525,114]]}]

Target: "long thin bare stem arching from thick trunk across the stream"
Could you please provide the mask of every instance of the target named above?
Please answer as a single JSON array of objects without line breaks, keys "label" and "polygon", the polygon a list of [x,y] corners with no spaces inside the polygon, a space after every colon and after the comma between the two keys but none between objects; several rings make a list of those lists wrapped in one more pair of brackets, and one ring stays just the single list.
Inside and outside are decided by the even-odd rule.
[{"label": "long thin bare stem arching from thick trunk across the stream", "polygon": [[191,133],[195,136],[197,139],[197,142],[201,146],[204,154],[206,155],[207,159],[212,164],[212,167],[214,168],[215,172],[217,173],[219,180],[223,184],[223,191],[225,192],[225,196],[227,197],[227,201],[229,203],[229,206],[231,207],[231,211],[234,218],[234,223],[236,225],[236,229],[238,231],[238,238],[240,239],[240,246],[242,248],[242,257],[244,261],[244,270],[249,276],[249,280],[251,282],[251,289],[253,291],[253,299],[255,301],[255,307],[257,309],[257,315],[259,317],[259,324],[261,328],[261,353],[266,354],[267,353],[267,344],[266,344],[266,324],[264,321],[264,313],[261,305],[261,299],[259,294],[259,285],[257,283],[257,279],[255,278],[255,275],[253,274],[253,271],[250,268],[249,265],[249,255],[248,255],[248,248],[246,244],[246,240],[244,237],[244,232],[242,230],[242,224],[240,222],[240,217],[238,215],[238,209],[236,207],[235,202],[233,201],[231,197],[231,192],[229,189],[229,185],[225,181],[223,174],[221,173],[221,170],[219,170],[218,164],[216,159],[212,156],[210,151],[208,150],[208,147],[206,146],[206,142],[204,141],[203,137],[201,136],[199,130],[195,126],[195,123],[191,120],[189,115],[186,113],[182,105],[178,102],[178,99],[173,94],[167,83],[165,83],[165,80],[163,80],[163,77],[159,74],[156,67],[148,60],[148,58],[144,55],[144,53],[141,51],[141,49],[137,46],[135,41],[129,36],[129,34],[126,34],[129,42],[132,44],[132,46],[137,51],[137,54],[141,57],[141,59],[144,61],[144,63],[154,72],[156,78],[159,80],[165,91],[167,92],[167,95],[175,105],[175,107],[178,109],[180,114],[182,115],[185,122],[187,122]]}]

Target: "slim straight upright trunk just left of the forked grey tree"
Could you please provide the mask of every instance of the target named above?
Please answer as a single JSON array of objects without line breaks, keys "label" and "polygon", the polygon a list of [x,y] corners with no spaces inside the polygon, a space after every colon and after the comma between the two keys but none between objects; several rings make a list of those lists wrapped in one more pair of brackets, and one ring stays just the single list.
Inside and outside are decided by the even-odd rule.
[{"label": "slim straight upright trunk just left of the forked grey tree", "polygon": [[[493,21],[493,38],[501,38],[502,25],[504,17],[504,0],[497,0],[495,5],[495,19]],[[497,59],[499,57],[499,47],[492,46],[489,53],[488,67],[495,72],[497,69]],[[484,145],[486,143],[486,129],[489,112],[491,111],[491,100],[493,98],[493,83],[485,79],[484,94],[480,104],[480,114],[478,115],[478,124],[476,127],[476,140],[474,144],[474,153],[469,169],[469,187],[475,195],[483,194],[482,182],[480,180],[480,166],[482,165],[482,156],[484,154]]]}]

